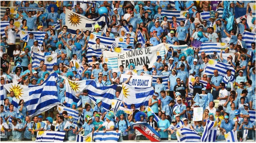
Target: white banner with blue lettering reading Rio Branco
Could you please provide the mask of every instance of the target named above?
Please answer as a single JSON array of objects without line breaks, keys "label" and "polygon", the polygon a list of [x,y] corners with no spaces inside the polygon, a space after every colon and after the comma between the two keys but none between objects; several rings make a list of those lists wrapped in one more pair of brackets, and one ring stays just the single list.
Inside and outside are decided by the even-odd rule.
[{"label": "white banner with blue lettering reading Rio Branco", "polygon": [[[120,82],[125,82],[131,75],[121,74]],[[136,76],[132,75],[128,85],[137,88],[148,88],[151,87],[152,77],[151,76]]]}]

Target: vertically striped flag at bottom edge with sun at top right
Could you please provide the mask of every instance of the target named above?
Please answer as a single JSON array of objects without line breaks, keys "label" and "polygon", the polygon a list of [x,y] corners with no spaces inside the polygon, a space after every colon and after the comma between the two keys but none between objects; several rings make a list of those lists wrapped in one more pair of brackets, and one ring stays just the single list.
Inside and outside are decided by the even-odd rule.
[{"label": "vertically striped flag at bottom edge with sun at top right", "polygon": [[201,141],[202,142],[215,142],[216,136],[217,136],[217,128],[218,128],[218,123],[217,121],[211,121],[207,120],[205,129],[202,134]]}]

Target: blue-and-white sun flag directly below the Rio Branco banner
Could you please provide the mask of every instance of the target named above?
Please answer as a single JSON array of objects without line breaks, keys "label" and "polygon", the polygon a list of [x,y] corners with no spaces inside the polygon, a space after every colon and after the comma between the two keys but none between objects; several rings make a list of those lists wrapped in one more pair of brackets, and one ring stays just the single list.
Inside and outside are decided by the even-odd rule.
[{"label": "blue-and-white sun flag directly below the Rio Branco banner", "polygon": [[142,89],[123,83],[122,92],[118,99],[124,101],[129,109],[131,108],[131,104],[135,104],[135,108],[139,109],[140,106],[148,106],[148,100],[152,97],[153,93],[153,87]]}]

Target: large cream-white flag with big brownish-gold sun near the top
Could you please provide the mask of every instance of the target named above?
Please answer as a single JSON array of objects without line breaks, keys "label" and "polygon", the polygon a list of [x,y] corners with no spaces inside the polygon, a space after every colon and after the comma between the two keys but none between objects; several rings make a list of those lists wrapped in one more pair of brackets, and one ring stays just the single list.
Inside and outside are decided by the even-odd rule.
[{"label": "large cream-white flag with big brownish-gold sun near the top", "polygon": [[100,26],[100,32],[105,33],[107,30],[107,16],[102,15],[96,19],[88,19],[83,15],[77,14],[73,11],[66,9],[66,26],[68,32],[75,34],[77,29],[83,29],[83,31],[89,30],[93,32],[94,25]]}]

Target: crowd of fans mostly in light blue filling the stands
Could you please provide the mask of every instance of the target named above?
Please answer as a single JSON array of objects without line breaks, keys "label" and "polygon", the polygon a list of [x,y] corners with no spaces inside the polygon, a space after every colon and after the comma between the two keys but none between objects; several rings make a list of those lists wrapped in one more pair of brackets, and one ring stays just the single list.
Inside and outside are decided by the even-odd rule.
[{"label": "crowd of fans mostly in light blue filling the stands", "polygon": [[[135,105],[131,105],[133,114],[126,114],[118,110],[116,114],[112,111],[107,112],[102,107],[102,101],[97,100],[94,108],[88,104],[88,91],[84,90],[82,94],[76,97],[82,100],[82,108],[77,107],[77,103],[72,103],[72,109],[83,113],[84,120],[82,127],[78,125],[69,125],[64,128],[66,122],[73,123],[74,119],[66,111],[54,114],[54,108],[34,117],[29,117],[26,104],[21,98],[18,110],[13,111],[11,101],[15,97],[13,91],[4,99],[1,104],[1,141],[35,141],[38,131],[66,131],[66,139],[74,141],[76,134],[84,130],[84,135],[90,132],[120,130],[123,140],[147,140],[138,130],[134,130],[133,123],[146,122],[150,124],[161,135],[162,140],[168,140],[171,134],[171,140],[176,140],[176,131],[179,128],[188,128],[202,133],[207,120],[218,122],[217,139],[225,140],[224,133],[231,130],[238,131],[238,138],[243,137],[244,129],[247,129],[247,139],[255,138],[255,121],[250,121],[249,110],[255,111],[255,42],[251,43],[252,50],[247,50],[245,41],[242,40],[242,33],[249,31],[247,19],[251,19],[255,27],[255,18],[252,17],[252,11],[249,10],[249,3],[255,1],[229,1],[229,12],[235,14],[235,7],[247,7],[247,19],[241,19],[240,23],[234,21],[231,31],[226,28],[227,21],[219,17],[216,9],[223,8],[223,1],[175,1],[175,7],[171,7],[169,1],[94,1],[95,7],[88,3],[77,2],[72,7],[74,1],[13,1],[15,7],[34,7],[44,8],[44,11],[18,11],[15,17],[10,13],[10,8],[6,8],[6,13],[2,21],[9,21],[10,25],[4,29],[5,34],[1,34],[1,85],[19,84],[19,85],[40,85],[53,72],[65,76],[70,80],[89,80],[94,79],[98,87],[109,86],[112,84],[121,85],[121,74],[130,75],[164,75],[168,78],[168,91],[162,84],[163,79],[157,78],[156,84],[153,84],[155,93],[148,101],[148,106],[160,118],[158,122],[154,120],[153,112],[145,111],[141,106],[139,110]],[[7,7],[7,1],[1,1],[1,7]],[[58,4],[58,7],[56,6]],[[9,3],[10,5],[10,3]],[[77,29],[72,35],[67,32],[65,25],[65,11],[71,10],[81,14],[88,19],[100,17],[98,9],[106,7],[108,9],[108,29],[106,33],[101,33],[99,27],[95,27],[93,32]],[[1,8],[2,9],[2,8]],[[161,15],[162,10],[187,10],[185,19],[177,21],[172,17],[167,21],[167,16]],[[200,13],[210,11],[210,21],[203,20]],[[22,20],[20,28],[13,25],[15,20]],[[46,20],[46,26],[42,25],[42,20]],[[54,29],[54,24],[60,22],[60,30]],[[215,23],[215,27],[213,26]],[[202,52],[198,55],[199,49],[193,51],[181,52],[170,47],[164,59],[157,57],[153,67],[144,65],[143,70],[134,71],[135,65],[130,64],[128,69],[120,66],[119,72],[112,72],[111,68],[103,62],[103,57],[92,56],[92,62],[88,63],[85,57],[86,48],[88,48],[89,35],[106,35],[106,37],[119,36],[118,30],[129,24],[129,31],[126,36],[134,37],[134,43],[130,43],[129,38],[126,44],[119,48],[140,49],[141,44],[137,42],[137,33],[140,31],[146,40],[145,47],[155,46],[160,43],[172,45],[188,45],[197,40],[201,42],[222,42],[227,43],[228,47],[221,50],[225,53],[234,53],[227,59],[220,56],[207,55]],[[25,31],[45,31],[43,45],[38,45],[34,40],[34,35],[29,34],[28,42],[22,39],[16,39],[16,35],[21,30]],[[97,39],[97,44],[92,48],[105,48],[100,44],[101,39]],[[97,47],[98,45],[98,47]],[[96,46],[96,47],[95,47]],[[30,63],[31,53],[57,53],[57,65],[54,65],[52,72],[47,72],[47,65],[40,61],[39,67],[32,68]],[[249,53],[253,52],[253,55]],[[188,54],[189,53],[189,54]],[[79,62],[84,70],[81,75],[72,62]],[[234,77],[231,70],[227,70],[225,77],[214,70],[214,75],[204,74],[204,66],[209,59],[216,59],[219,62],[230,64],[236,70]],[[168,61],[168,62],[167,62]],[[189,77],[194,76],[192,83],[193,92],[190,92]],[[235,88],[231,87],[230,80],[235,78]],[[130,78],[129,78],[130,79]],[[125,82],[128,83],[129,79]],[[200,83],[200,79],[207,81],[207,88]],[[57,84],[58,99],[61,103],[65,102],[65,82],[60,80]],[[193,121],[193,109],[200,107],[198,103],[186,101],[187,97],[192,97],[196,93],[207,95],[208,93],[214,99],[208,107],[205,107],[202,121]],[[118,99],[120,91],[116,91]],[[6,96],[6,95],[5,95]],[[2,98],[2,97],[1,97]],[[2,99],[1,99],[2,100]],[[218,102],[216,102],[218,101]],[[189,103],[189,104],[188,104]],[[216,103],[218,106],[216,106]],[[177,104],[177,108],[174,105]],[[123,102],[123,106],[126,104]],[[127,107],[126,107],[127,108]],[[116,118],[115,118],[116,115]],[[43,118],[44,116],[44,118]],[[187,117],[187,118],[185,118]],[[9,123],[9,119],[11,123]],[[56,123],[54,124],[54,120]],[[43,122],[43,121],[46,121]],[[58,126],[56,129],[55,126]],[[170,138],[169,138],[170,139]]]}]

